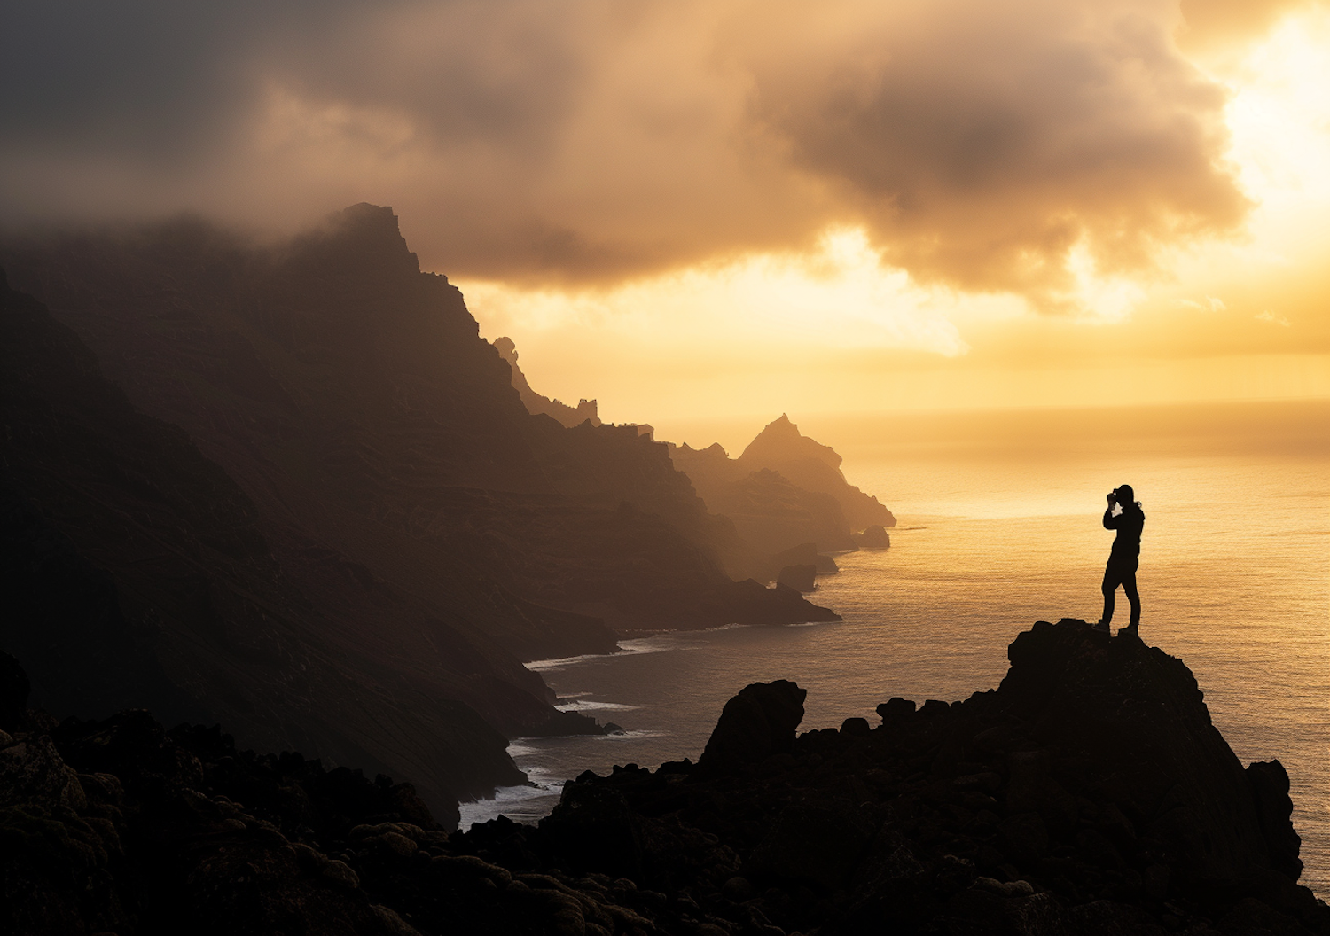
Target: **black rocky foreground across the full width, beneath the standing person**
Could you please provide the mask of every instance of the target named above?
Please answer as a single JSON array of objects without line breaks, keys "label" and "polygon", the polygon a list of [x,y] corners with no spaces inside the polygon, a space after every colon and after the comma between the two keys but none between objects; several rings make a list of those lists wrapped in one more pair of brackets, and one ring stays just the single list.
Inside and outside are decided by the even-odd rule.
[{"label": "black rocky foreground across the full width, beneath the standing person", "polygon": [[1186,666],[1040,622],[996,690],[797,734],[754,683],[706,749],[587,772],[539,826],[439,831],[406,784],[142,713],[0,698],[5,932],[1330,933],[1277,760]]}]

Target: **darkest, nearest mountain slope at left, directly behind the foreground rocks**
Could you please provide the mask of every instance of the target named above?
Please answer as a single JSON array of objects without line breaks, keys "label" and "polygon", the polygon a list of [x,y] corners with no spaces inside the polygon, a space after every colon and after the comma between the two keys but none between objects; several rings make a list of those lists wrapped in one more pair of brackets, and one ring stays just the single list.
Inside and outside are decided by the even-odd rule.
[{"label": "darkest, nearest mountain slope at left, directly behind the foreground rocks", "polygon": [[251,745],[394,764],[443,816],[520,778],[495,726],[564,721],[516,659],[364,566],[290,534],[274,549],[222,468],[7,287],[0,419],[0,645],[52,711],[221,718]]}]

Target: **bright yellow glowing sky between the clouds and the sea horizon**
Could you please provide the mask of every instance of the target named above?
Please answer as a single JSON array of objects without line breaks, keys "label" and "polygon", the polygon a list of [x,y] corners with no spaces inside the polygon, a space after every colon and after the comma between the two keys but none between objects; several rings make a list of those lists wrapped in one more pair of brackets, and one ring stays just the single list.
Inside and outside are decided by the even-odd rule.
[{"label": "bright yellow glowing sky between the clouds and the sea horizon", "polygon": [[[1253,202],[1244,230],[1160,247],[1138,273],[1097,269],[1079,242],[1053,314],[1016,295],[923,286],[884,265],[857,226],[829,229],[806,253],[750,254],[610,289],[459,285],[487,335],[508,334],[528,352],[537,387],[598,394],[602,406],[632,400],[646,407],[641,419],[665,399],[672,411],[737,411],[773,391],[822,410],[1097,403],[1121,392],[1138,402],[1323,396],[1330,9],[1290,15],[1242,56],[1226,55],[1209,70],[1230,94],[1228,160]],[[618,363],[606,366],[605,354]]]}]

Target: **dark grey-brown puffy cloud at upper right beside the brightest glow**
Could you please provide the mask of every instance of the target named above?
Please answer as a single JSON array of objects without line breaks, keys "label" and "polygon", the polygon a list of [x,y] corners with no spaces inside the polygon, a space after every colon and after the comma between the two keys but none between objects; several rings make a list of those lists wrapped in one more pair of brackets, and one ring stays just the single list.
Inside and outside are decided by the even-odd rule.
[{"label": "dark grey-brown puffy cloud at upper right beside the brightest glow", "polygon": [[1056,292],[1075,245],[1121,271],[1242,219],[1248,201],[1218,162],[1224,94],[1177,56],[1152,5],[920,9],[769,44],[757,69],[755,113],[797,164],[839,183],[894,262]]}]

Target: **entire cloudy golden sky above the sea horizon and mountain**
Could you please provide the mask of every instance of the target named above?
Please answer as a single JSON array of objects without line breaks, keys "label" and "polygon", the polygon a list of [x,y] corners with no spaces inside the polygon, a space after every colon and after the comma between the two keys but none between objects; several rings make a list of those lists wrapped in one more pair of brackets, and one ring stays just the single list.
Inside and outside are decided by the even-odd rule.
[{"label": "entire cloudy golden sky above the sea horizon and mountain", "polygon": [[360,201],[614,421],[1330,398],[1326,3],[0,7],[0,223]]}]

